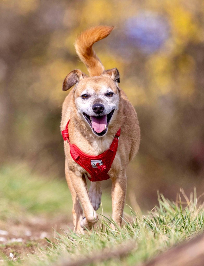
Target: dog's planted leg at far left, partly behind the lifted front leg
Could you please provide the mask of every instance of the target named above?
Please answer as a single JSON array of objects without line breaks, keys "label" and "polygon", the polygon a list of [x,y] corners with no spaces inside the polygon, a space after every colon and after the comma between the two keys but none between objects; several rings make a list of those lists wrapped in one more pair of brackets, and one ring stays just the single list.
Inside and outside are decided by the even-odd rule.
[{"label": "dog's planted leg at far left, partly behind the lifted front leg", "polygon": [[67,184],[69,186],[69,190],[71,192],[71,197],[72,197],[72,201],[73,201],[72,214],[73,214],[74,232],[83,234],[83,230],[80,226],[80,222],[82,220],[83,210],[82,210],[82,207],[80,205],[77,193],[75,192],[73,185],[71,183],[66,161],[65,161],[65,176],[66,176],[66,181],[67,181]]}]

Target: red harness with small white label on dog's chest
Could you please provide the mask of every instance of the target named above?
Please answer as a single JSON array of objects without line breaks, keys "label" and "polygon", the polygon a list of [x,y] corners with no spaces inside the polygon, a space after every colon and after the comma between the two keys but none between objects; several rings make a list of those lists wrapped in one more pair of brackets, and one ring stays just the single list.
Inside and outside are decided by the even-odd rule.
[{"label": "red harness with small white label on dog's chest", "polygon": [[98,156],[90,156],[83,153],[75,144],[70,143],[68,132],[69,121],[66,124],[65,130],[62,130],[62,136],[64,141],[67,140],[69,142],[71,157],[90,174],[91,178],[88,177],[90,181],[102,181],[109,179],[110,176],[108,175],[108,172],[118,149],[118,139],[121,129],[119,129],[115,134],[113,142],[107,151],[99,154]]}]

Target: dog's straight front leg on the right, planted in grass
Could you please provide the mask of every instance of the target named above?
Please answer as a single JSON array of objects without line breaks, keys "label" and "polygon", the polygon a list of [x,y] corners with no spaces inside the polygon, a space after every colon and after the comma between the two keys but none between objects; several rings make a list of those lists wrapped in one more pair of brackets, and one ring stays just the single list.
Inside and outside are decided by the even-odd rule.
[{"label": "dog's straight front leg on the right, planted in grass", "polygon": [[[121,173],[116,178],[112,178],[112,218],[117,225],[121,227],[122,225],[122,216],[123,209],[125,205],[126,197],[126,187],[127,187],[127,176],[126,173]],[[111,223],[111,228],[115,229],[113,223]]]}]

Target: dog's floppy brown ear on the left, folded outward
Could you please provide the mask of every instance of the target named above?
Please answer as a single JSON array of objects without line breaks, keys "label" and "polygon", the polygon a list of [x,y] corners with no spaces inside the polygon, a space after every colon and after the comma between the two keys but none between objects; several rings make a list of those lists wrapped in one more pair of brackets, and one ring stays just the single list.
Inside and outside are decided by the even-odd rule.
[{"label": "dog's floppy brown ear on the left, folded outward", "polygon": [[79,69],[75,69],[72,72],[70,72],[62,85],[62,90],[69,90],[72,86],[77,84],[82,78],[87,78],[88,75],[85,73],[81,72]]}]

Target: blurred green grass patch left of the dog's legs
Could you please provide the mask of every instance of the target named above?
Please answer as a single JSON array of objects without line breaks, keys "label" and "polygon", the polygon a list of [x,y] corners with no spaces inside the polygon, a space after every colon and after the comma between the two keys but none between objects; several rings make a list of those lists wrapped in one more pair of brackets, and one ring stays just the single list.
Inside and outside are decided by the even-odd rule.
[{"label": "blurred green grass patch left of the dog's legs", "polygon": [[71,195],[65,180],[39,178],[25,165],[2,167],[0,180],[0,220],[71,210]]}]

